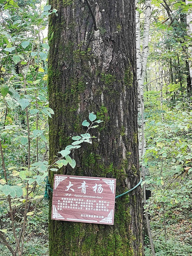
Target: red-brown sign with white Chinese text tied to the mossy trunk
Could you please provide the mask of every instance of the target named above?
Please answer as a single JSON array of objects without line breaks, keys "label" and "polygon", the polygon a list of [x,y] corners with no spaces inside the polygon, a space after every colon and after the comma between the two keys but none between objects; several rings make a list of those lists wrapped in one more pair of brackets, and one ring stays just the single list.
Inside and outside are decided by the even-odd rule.
[{"label": "red-brown sign with white Chinese text tied to the mossy trunk", "polygon": [[54,177],[51,218],[113,225],[116,179]]}]

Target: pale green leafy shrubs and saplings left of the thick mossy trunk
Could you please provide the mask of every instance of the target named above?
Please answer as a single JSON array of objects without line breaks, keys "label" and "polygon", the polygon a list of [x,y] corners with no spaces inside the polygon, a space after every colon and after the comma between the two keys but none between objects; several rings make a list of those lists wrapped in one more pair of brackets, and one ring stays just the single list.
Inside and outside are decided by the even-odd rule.
[{"label": "pale green leafy shrubs and saplings left of the thick mossy trunk", "polygon": [[49,167],[47,119],[54,112],[46,88],[49,46],[41,31],[57,10],[11,0],[1,1],[0,11],[0,232],[10,252],[2,243],[0,250],[46,255],[40,243],[47,243],[48,208],[40,208]]}]

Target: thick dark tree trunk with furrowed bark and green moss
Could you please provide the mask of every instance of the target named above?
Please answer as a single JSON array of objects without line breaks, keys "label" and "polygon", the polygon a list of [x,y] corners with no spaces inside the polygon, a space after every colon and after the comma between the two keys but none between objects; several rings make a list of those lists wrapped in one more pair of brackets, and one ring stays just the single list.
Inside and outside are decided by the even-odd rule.
[{"label": "thick dark tree trunk with furrowed bark and green moss", "polygon": [[[90,13],[92,8],[94,17]],[[95,112],[104,120],[92,145],[72,153],[76,167],[60,174],[117,178],[119,195],[140,181],[137,139],[135,3],[52,0],[49,18],[48,92],[50,162],[85,133],[81,123]],[[88,4],[88,5],[87,5]],[[96,130],[96,129],[95,129]],[[53,173],[49,179],[53,184]],[[51,200],[50,200],[51,209]],[[116,199],[114,225],[51,220],[51,256],[143,255],[141,188]]]}]

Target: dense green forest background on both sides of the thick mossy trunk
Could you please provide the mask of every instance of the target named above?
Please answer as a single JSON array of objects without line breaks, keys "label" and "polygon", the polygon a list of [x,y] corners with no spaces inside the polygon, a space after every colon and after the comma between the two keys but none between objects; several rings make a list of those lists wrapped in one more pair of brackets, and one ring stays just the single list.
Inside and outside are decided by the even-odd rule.
[{"label": "dense green forest background on both sides of the thick mossy trunk", "polygon": [[[141,52],[147,4],[136,4]],[[150,4],[148,60],[140,87],[146,141],[142,186],[150,196],[144,211],[150,218],[155,255],[190,255],[192,5],[165,0]],[[53,34],[47,36],[49,15],[57,16],[57,10],[45,2],[0,0],[0,255],[4,256],[14,255],[15,249],[18,255],[48,255],[46,177],[48,170],[62,166],[60,159],[48,165],[48,118],[54,115],[47,95],[48,51],[53,38]],[[78,58],[78,54],[91,53],[74,54]],[[106,112],[96,113],[97,118],[103,120]],[[141,116],[139,113],[140,123]],[[145,255],[150,256],[145,225],[144,234]]]}]

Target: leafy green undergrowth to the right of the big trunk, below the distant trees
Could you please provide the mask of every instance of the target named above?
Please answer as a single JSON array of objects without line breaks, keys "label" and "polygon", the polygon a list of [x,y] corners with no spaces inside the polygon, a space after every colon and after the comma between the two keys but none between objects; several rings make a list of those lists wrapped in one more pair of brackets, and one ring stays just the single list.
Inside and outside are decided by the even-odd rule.
[{"label": "leafy green undergrowth to the right of the big trunk, below the distant trees", "polygon": [[[164,99],[161,109],[157,95],[158,92],[145,93],[147,151],[142,165],[149,170],[145,182],[152,193],[145,209],[152,216],[152,232],[162,233],[154,238],[155,255],[180,256],[192,252],[191,240],[184,239],[184,230],[179,233],[183,241],[175,243],[178,221],[184,222],[184,214],[192,204],[192,106],[191,99],[183,97],[172,102]],[[191,216],[186,215],[188,229]],[[164,229],[169,234],[167,241]],[[150,249],[145,254],[151,255]]]}]

